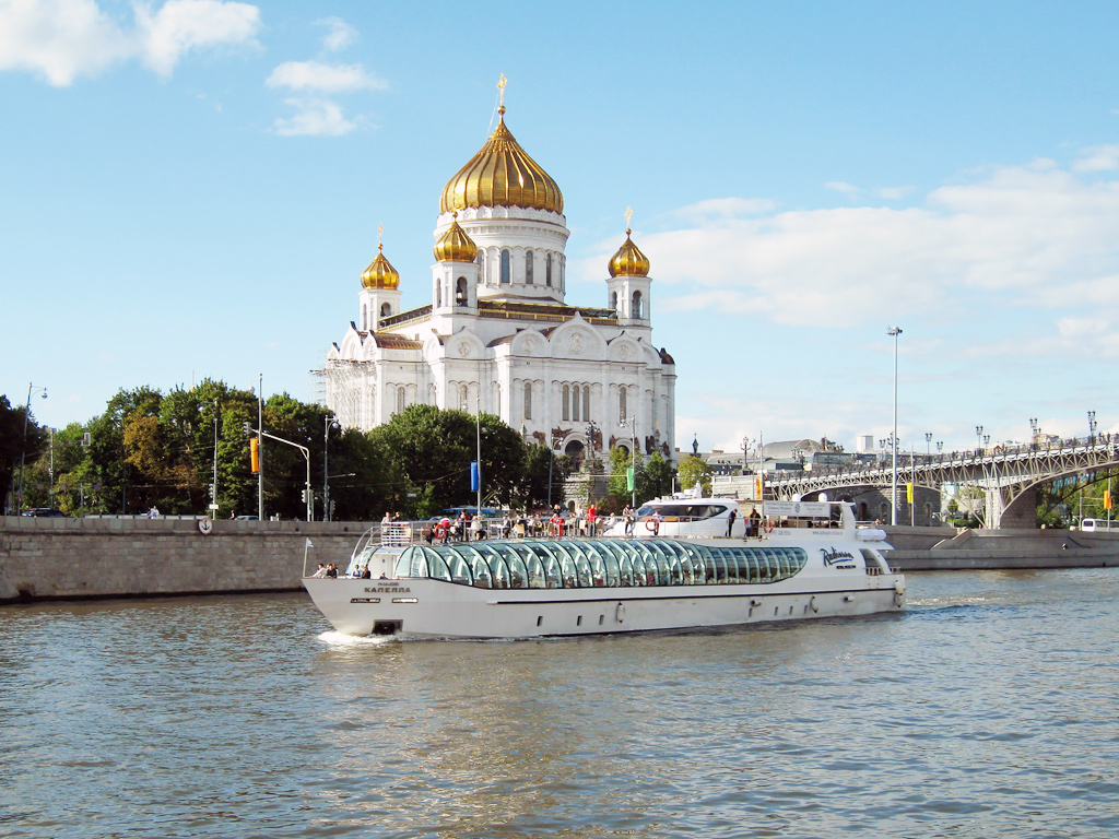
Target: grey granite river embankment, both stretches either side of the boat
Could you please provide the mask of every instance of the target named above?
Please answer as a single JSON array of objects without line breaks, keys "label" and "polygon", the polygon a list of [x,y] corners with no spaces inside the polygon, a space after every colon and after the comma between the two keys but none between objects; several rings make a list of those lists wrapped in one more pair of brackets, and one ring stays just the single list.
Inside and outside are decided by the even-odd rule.
[{"label": "grey granite river embankment, both stretches either side of the boat", "polygon": [[[344,568],[368,524],[0,517],[0,603],[300,588],[307,563]],[[1119,566],[1119,535],[890,527],[901,571]]]}]

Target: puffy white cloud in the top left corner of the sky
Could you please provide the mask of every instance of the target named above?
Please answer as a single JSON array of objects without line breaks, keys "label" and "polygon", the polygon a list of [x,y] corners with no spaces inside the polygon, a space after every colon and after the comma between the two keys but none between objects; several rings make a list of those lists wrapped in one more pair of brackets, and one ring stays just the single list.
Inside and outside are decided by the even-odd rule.
[{"label": "puffy white cloud in the top left corner of the sky", "polygon": [[190,49],[255,45],[260,10],[219,0],[169,0],[133,7],[123,29],[94,0],[0,0],[0,69],[37,73],[55,87],[131,58],[169,75]]}]

